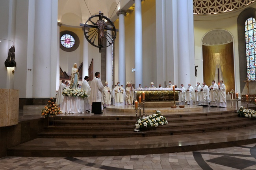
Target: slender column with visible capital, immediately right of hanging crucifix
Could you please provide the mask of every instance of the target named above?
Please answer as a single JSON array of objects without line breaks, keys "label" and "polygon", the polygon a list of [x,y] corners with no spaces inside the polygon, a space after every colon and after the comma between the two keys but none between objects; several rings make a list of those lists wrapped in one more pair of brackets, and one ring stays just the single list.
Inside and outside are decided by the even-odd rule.
[{"label": "slender column with visible capital, immediately right of hanging crucifix", "polygon": [[125,86],[125,31],[124,31],[124,16],[126,12],[118,11],[119,16],[119,69],[118,69],[118,81]]}]

